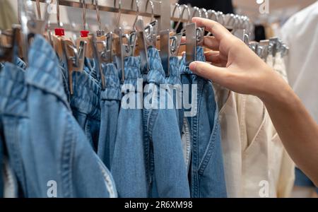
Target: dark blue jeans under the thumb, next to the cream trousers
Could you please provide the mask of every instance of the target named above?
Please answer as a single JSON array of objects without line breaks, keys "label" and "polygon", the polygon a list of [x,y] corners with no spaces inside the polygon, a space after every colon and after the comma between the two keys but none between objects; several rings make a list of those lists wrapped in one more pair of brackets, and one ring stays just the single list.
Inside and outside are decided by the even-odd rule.
[{"label": "dark blue jeans under the thumb, next to the cream trousers", "polygon": [[[205,61],[202,47],[196,49],[196,58],[198,61]],[[185,65],[185,57],[182,59],[180,70],[183,85],[197,86],[196,114],[187,117],[192,141],[189,174],[191,196],[194,198],[226,197],[218,105],[216,105],[213,85],[211,81],[194,75]],[[184,112],[181,112],[180,116],[184,116]]]}]

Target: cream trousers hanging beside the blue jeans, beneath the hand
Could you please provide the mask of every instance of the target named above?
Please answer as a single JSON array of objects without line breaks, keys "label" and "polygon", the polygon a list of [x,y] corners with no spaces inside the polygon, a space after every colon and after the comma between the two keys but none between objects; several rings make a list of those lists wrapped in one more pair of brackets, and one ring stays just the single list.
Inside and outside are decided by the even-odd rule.
[{"label": "cream trousers hanging beside the blue jeans, beneath the hand", "polygon": [[[267,62],[273,66],[273,58]],[[287,81],[280,54],[273,69]],[[259,98],[215,85],[228,197],[289,197],[295,165]]]}]

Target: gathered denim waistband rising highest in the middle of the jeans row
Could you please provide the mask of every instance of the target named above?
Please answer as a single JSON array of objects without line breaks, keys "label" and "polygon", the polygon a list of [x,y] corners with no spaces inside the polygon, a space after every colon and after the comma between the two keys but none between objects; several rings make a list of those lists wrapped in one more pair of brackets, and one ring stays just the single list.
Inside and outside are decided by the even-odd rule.
[{"label": "gathered denim waistband rising highest in the middle of the jeans row", "polygon": [[161,64],[160,55],[158,49],[150,48],[148,49],[148,63],[149,72],[146,76],[146,81],[148,83],[155,83],[160,86],[160,84],[165,83],[165,71],[163,70],[163,64]]}]

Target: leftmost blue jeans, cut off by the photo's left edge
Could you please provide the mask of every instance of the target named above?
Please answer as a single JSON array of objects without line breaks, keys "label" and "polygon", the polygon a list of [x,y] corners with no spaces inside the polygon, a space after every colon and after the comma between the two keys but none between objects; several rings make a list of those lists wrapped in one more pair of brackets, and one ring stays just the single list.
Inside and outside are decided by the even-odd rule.
[{"label": "leftmost blue jeans, cut off by the photo's left edge", "polygon": [[23,161],[28,157],[28,152],[22,151],[29,148],[30,141],[27,98],[25,72],[14,64],[6,63],[0,71],[0,114],[4,136],[2,140],[5,142],[10,166],[17,177],[19,197],[27,197],[28,190],[31,190],[27,189],[27,174]]}]

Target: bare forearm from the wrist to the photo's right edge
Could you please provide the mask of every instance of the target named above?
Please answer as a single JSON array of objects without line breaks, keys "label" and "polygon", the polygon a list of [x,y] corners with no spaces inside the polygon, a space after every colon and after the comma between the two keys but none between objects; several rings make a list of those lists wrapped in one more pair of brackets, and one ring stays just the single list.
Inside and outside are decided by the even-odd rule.
[{"label": "bare forearm from the wrist to the photo's right edge", "polygon": [[318,185],[318,124],[287,83],[279,85],[261,99],[290,157]]}]

